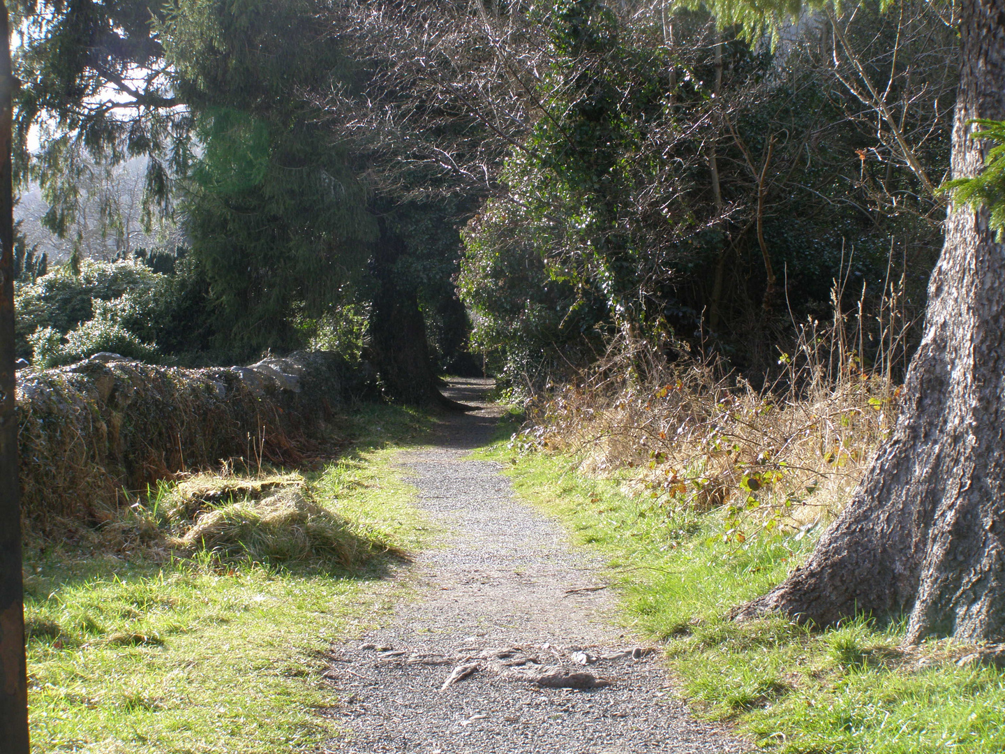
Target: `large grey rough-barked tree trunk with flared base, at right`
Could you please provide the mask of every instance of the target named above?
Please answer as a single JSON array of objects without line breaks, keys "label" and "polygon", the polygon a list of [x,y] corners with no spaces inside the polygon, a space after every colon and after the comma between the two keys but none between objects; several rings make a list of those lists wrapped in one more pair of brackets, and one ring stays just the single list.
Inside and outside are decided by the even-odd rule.
[{"label": "large grey rough-barked tree trunk with flared base, at right", "polygon": [[[974,118],[1005,120],[1005,0],[963,0],[953,175],[976,175]],[[1005,246],[953,207],[907,401],[809,562],[740,616],[818,625],[909,612],[908,641],[1005,639]]]}]

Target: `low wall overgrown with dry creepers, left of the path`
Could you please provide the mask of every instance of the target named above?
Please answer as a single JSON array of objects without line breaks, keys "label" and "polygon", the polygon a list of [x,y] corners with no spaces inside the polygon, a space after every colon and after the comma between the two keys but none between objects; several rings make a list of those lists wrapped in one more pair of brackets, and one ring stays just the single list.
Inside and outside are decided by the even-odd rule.
[{"label": "low wall overgrown with dry creepers, left of the path", "polygon": [[335,354],[177,369],[97,354],[19,374],[21,503],[48,536],[114,520],[124,491],[243,457],[292,463],[346,398]]}]

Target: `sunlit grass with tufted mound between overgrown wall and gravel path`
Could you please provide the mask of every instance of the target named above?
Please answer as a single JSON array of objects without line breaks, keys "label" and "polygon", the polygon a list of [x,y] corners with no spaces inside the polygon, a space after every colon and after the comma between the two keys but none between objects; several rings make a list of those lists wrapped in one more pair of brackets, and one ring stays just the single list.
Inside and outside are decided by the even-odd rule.
[{"label": "sunlit grass with tufted mound between overgrown wall and gravel path", "polygon": [[[385,577],[429,536],[390,460],[427,419],[370,407],[351,423],[353,443],[315,470],[190,478],[86,543],[32,543],[35,751],[314,751],[332,735],[325,652],[407,595]],[[186,542],[167,512],[191,505],[193,487],[192,518],[219,525]],[[262,512],[246,493],[280,487],[295,488],[295,506]],[[284,544],[290,511],[300,518]]]}]

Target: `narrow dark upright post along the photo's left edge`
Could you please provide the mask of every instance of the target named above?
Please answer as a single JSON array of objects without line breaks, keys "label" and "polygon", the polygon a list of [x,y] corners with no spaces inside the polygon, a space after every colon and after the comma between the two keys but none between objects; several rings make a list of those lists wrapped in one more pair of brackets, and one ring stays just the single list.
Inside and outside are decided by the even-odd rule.
[{"label": "narrow dark upright post along the photo's left edge", "polygon": [[0,754],[28,752],[21,508],[14,413],[14,201],[10,16],[0,0]]}]

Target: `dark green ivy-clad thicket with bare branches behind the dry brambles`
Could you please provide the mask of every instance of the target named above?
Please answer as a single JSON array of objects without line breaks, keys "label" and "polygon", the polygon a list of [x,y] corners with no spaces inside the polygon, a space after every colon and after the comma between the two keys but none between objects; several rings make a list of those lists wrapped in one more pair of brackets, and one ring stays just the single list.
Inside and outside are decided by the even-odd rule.
[{"label": "dark green ivy-clad thicket with bare branches behind the dry brambles", "polygon": [[840,306],[875,316],[893,287],[921,311],[956,79],[936,11],[865,4],[774,49],[659,5],[563,2],[524,23],[537,37],[500,55],[533,116],[465,228],[458,278],[473,342],[511,382],[574,374],[621,336],[667,360],[716,354],[760,385],[799,323],[830,318],[839,277]]}]

